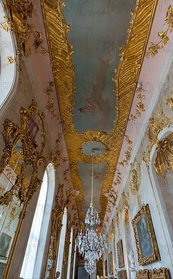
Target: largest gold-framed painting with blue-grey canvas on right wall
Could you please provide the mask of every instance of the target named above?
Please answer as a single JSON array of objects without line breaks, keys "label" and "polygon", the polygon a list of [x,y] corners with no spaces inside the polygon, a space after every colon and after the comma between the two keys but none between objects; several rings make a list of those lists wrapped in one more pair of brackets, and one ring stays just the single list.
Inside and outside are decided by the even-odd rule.
[{"label": "largest gold-framed painting with blue-grey canvas on right wall", "polygon": [[160,260],[149,205],[143,205],[132,220],[139,265]]}]

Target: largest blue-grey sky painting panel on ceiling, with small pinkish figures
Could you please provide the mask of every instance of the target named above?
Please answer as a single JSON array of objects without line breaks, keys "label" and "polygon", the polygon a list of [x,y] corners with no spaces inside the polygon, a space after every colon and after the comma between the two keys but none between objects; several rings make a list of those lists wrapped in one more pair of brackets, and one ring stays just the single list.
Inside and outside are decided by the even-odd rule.
[{"label": "largest blue-grey sky painting panel on ceiling, with small pinkish figures", "polygon": [[113,128],[116,95],[113,92],[114,68],[119,64],[118,47],[127,39],[130,11],[136,1],[73,0],[63,10],[68,33],[74,45],[75,66],[74,123],[77,131]]}]

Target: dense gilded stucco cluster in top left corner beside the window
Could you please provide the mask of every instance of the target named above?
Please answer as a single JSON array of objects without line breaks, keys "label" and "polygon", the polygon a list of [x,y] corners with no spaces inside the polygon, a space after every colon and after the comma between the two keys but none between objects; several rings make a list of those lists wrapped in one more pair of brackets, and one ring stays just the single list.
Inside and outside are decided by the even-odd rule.
[{"label": "dense gilded stucco cluster in top left corner beside the window", "polygon": [[44,47],[45,41],[42,38],[42,32],[34,30],[36,26],[29,22],[32,15],[36,13],[30,1],[7,0],[4,10],[8,16],[4,17],[4,21],[0,23],[0,27],[6,31],[15,33],[17,39],[16,55],[19,57],[19,63],[16,58],[13,58],[13,62],[16,62],[17,71],[21,72],[23,55],[28,56],[31,53],[31,46],[29,44],[34,47],[35,53],[47,55],[48,51]]}]

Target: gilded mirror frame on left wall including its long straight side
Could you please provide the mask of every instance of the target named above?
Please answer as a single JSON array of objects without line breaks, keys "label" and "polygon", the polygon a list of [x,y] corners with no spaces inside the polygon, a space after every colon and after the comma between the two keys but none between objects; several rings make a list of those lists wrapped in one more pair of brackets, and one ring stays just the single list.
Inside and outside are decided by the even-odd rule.
[{"label": "gilded mirror frame on left wall including its long straight side", "polygon": [[[32,119],[32,121],[30,119]],[[7,189],[4,195],[1,195],[0,203],[3,206],[12,205],[12,211],[9,212],[10,223],[7,224],[8,228],[10,228],[11,222],[17,218],[17,215],[19,218],[19,222],[14,233],[10,254],[3,274],[4,277],[8,277],[12,255],[14,254],[21,226],[26,216],[28,202],[32,198],[33,193],[37,191],[42,183],[42,181],[38,179],[38,168],[45,161],[45,158],[42,156],[45,148],[46,137],[44,128],[44,113],[40,112],[36,101],[33,99],[28,109],[20,109],[20,122],[21,124],[17,124],[9,119],[5,119],[3,124],[4,131],[2,132],[5,148],[1,158],[0,173],[2,173],[6,167],[8,172],[10,167],[15,169],[15,174],[17,176],[10,190]],[[39,131],[37,130],[38,125]],[[36,137],[38,132],[39,137]],[[20,152],[16,152],[15,148],[20,149]],[[18,159],[20,157],[20,164],[18,163],[18,160],[16,163],[16,157]],[[28,166],[32,169],[29,181],[26,179]],[[20,214],[19,212],[17,214],[16,205],[12,203],[14,195],[19,201],[20,205],[22,204],[23,206]]]}]

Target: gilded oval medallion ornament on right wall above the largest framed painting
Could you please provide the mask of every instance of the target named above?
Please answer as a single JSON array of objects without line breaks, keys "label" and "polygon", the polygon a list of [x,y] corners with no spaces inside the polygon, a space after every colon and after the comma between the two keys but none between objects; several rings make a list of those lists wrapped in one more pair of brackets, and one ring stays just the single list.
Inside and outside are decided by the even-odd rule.
[{"label": "gilded oval medallion ornament on right wall above the largest framed painting", "polygon": [[139,189],[141,186],[141,166],[136,160],[130,164],[130,190],[133,195],[137,195],[137,203],[142,207]]}]

